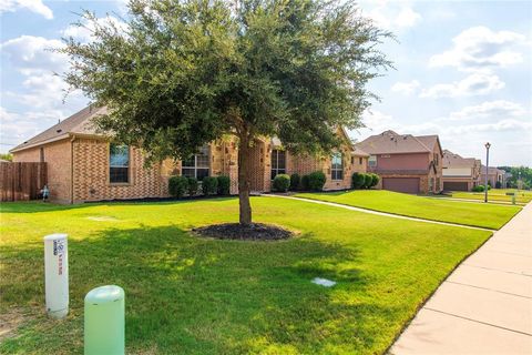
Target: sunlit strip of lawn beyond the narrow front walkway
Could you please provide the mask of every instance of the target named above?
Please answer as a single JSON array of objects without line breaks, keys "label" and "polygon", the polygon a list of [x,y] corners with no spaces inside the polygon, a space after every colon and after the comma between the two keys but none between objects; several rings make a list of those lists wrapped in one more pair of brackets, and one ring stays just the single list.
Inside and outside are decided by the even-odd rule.
[{"label": "sunlit strip of lawn beyond the narrow front walkway", "polygon": [[521,207],[519,206],[443,201],[386,190],[300,193],[296,196],[329,201],[412,217],[495,230],[503,226],[511,217],[521,211]]}]

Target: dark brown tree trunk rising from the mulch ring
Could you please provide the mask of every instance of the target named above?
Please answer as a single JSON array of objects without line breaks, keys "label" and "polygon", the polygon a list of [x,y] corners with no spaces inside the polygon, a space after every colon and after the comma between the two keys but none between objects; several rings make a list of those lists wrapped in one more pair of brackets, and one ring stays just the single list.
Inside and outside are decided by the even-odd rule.
[{"label": "dark brown tree trunk rising from the mulch ring", "polygon": [[249,168],[249,140],[242,138],[238,146],[238,203],[239,222],[243,225],[252,223],[252,204],[249,203],[250,173]]}]

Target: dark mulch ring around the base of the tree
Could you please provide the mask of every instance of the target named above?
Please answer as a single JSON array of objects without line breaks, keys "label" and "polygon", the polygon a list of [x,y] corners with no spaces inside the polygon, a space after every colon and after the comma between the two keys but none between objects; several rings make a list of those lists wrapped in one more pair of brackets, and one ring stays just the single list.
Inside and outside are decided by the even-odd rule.
[{"label": "dark mulch ring around the base of the tree", "polygon": [[252,223],[248,225],[239,223],[213,224],[193,229],[192,231],[201,236],[239,241],[279,241],[294,235],[290,231],[264,223]]}]

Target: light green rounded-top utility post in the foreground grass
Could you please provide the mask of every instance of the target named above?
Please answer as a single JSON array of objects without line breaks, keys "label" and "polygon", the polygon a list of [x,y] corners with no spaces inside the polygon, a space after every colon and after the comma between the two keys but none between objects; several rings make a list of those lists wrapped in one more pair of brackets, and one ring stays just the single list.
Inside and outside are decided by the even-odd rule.
[{"label": "light green rounded-top utility post in the foreground grass", "polygon": [[124,290],[110,285],[85,296],[85,355],[124,355]]}]

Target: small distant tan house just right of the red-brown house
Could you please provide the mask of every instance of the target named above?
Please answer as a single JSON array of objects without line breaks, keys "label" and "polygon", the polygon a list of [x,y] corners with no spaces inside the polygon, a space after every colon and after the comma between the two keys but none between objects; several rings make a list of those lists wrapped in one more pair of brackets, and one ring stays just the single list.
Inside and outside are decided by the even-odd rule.
[{"label": "small distant tan house just right of the red-brown house", "polygon": [[443,190],[471,191],[480,182],[480,160],[443,151]]}]

